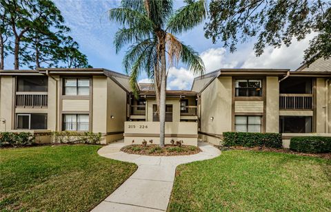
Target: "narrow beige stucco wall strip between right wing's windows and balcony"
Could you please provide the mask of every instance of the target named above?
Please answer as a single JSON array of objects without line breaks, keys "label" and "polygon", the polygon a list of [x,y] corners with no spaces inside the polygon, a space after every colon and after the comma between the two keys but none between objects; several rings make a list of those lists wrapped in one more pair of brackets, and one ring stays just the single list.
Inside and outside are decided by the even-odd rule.
[{"label": "narrow beige stucco wall strip between right wing's windows and balcony", "polygon": [[279,82],[277,76],[267,76],[265,98],[265,131],[279,132]]}]

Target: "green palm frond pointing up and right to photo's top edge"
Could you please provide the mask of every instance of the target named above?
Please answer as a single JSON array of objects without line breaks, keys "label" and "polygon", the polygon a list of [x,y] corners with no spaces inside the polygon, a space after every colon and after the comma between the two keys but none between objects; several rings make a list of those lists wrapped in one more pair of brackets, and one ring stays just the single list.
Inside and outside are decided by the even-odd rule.
[{"label": "green palm frond pointing up and right to photo's top edge", "polygon": [[205,0],[192,1],[188,5],[179,8],[168,21],[168,30],[174,34],[180,34],[192,30],[206,17]]}]

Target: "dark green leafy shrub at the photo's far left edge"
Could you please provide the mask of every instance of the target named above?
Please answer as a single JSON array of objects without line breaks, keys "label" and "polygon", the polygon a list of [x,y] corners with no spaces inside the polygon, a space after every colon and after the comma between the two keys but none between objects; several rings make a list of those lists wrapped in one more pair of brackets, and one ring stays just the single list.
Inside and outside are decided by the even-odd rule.
[{"label": "dark green leafy shrub at the photo's far left edge", "polygon": [[29,132],[1,132],[0,147],[25,147],[34,143],[35,137]]}]

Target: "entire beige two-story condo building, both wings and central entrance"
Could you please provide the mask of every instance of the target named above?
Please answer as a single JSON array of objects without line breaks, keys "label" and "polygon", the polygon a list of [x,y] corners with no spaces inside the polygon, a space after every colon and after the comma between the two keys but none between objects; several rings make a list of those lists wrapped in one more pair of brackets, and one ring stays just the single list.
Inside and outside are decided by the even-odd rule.
[{"label": "entire beige two-story condo building, both wings and central entrance", "polygon": [[[220,69],[167,91],[165,142],[219,145],[225,131],[331,135],[331,60],[296,71]],[[154,87],[110,70],[0,70],[0,131],[92,131],[102,142],[159,142]]]}]

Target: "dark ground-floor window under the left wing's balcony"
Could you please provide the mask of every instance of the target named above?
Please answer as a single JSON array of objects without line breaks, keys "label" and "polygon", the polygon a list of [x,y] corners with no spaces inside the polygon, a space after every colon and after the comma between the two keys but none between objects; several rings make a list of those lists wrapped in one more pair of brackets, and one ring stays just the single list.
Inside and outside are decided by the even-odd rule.
[{"label": "dark ground-floor window under the left wing's balcony", "polygon": [[16,129],[47,129],[47,114],[17,114]]}]

